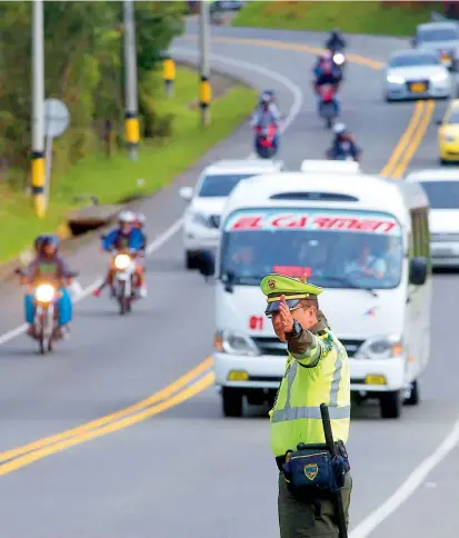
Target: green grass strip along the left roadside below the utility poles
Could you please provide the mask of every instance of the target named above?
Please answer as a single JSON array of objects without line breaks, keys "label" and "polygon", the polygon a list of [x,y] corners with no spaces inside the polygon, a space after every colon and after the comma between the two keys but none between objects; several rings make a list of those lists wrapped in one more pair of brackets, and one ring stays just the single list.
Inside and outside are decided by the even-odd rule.
[{"label": "green grass strip along the left roadside below the utility poles", "polygon": [[211,126],[201,128],[196,102],[197,73],[180,67],[174,97],[167,100],[161,94],[157,99],[161,114],[176,114],[170,139],[143,143],[137,162],[130,161],[126,152],[109,159],[99,150],[64,176],[52,177],[50,209],[43,220],[34,216],[30,197],[0,186],[0,261],[23,251],[38,233],[56,230],[66,211],[77,206],[76,197],[93,195],[101,203],[117,203],[130,196],[152,193],[228,137],[256,106],[257,92],[242,84],[230,83],[228,79],[226,87],[221,87],[222,77],[219,79],[220,88],[214,90],[211,108]]}]

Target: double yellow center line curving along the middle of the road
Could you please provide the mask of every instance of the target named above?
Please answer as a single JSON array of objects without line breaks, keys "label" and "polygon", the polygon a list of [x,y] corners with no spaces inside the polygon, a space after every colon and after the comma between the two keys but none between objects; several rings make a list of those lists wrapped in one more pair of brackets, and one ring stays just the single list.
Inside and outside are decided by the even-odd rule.
[{"label": "double yellow center line curving along the middle of the road", "polygon": [[[196,38],[187,37],[186,39]],[[308,53],[319,53],[323,50],[306,44],[282,43],[271,40],[214,38],[213,41],[232,43],[239,42],[241,44],[255,44],[285,50],[298,50]],[[348,54],[348,59],[351,62],[360,63],[371,69],[382,68],[381,62],[357,54]],[[400,177],[403,173],[410,159],[415,155],[417,147],[422,140],[430,117],[433,112],[433,101],[429,101],[427,106],[423,101],[418,101],[415,104],[411,120],[406,131],[402,133],[400,140],[398,141],[388,163],[386,165],[381,173],[386,173],[391,170],[393,170],[392,176]],[[422,113],[426,110],[427,112],[422,117]],[[403,150],[406,150],[406,153],[402,157]],[[124,409],[112,412],[76,428],[62,431],[60,434],[44,437],[22,447],[0,452],[0,475],[7,475],[9,472],[12,472],[13,470],[26,467],[33,461],[42,459],[52,454],[66,450],[76,445],[80,445],[90,439],[111,434],[122,428],[127,428],[186,401],[187,399],[201,392],[213,383],[213,373],[211,371],[208,371],[211,368],[212,363],[212,358],[208,357],[192,370],[184,373],[167,387],[162,388],[160,391]]]}]

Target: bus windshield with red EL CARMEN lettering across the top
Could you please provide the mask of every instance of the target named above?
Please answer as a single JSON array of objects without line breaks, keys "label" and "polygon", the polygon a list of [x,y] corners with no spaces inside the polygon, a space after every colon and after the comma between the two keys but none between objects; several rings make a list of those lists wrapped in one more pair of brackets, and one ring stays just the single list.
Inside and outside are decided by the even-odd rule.
[{"label": "bus windshield with red EL CARMEN lettering across the top", "polygon": [[239,210],[223,226],[220,277],[235,285],[307,273],[325,288],[389,289],[399,286],[401,268],[400,225],[387,213]]}]

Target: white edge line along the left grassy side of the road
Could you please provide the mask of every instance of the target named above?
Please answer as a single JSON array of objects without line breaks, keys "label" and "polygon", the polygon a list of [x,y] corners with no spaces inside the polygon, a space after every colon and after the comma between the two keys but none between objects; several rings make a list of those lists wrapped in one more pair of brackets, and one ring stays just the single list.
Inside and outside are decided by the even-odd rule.
[{"label": "white edge line along the left grassy side of the road", "polygon": [[[176,52],[179,53],[179,56],[181,56],[181,54],[184,54],[184,56],[197,54],[197,52],[190,51],[188,49],[179,49],[179,48],[173,48],[173,49],[176,50]],[[260,74],[263,74],[263,76],[269,77],[273,80],[277,80],[279,83],[285,86],[293,94],[293,104],[291,106],[289,113],[287,114],[286,121],[283,122],[283,124],[279,129],[280,132],[286,131],[286,129],[288,129],[288,127],[295,121],[295,119],[297,118],[297,116],[299,114],[299,112],[301,110],[302,102],[303,102],[302,92],[296,83],[293,83],[291,80],[289,80],[288,78],[283,77],[282,74],[280,74],[278,72],[269,71],[268,69],[265,69],[260,66],[256,66],[255,63],[249,63],[247,61],[241,61],[241,60],[232,60],[231,58],[226,58],[226,57],[219,56],[219,54],[211,54],[211,58],[213,58],[214,60],[217,60],[221,63],[228,63],[229,66],[232,64],[232,66],[239,67],[241,69],[247,69],[249,71],[259,72]],[[253,158],[253,153],[250,153],[246,159],[251,159],[251,158]],[[183,222],[183,217],[180,217],[180,219],[178,219],[176,222],[173,222],[173,225],[171,227],[169,227],[159,237],[157,237],[157,239],[154,239],[154,241],[152,241],[150,245],[148,245],[147,255],[151,255],[156,250],[159,250],[167,241],[169,241],[169,239],[171,239],[179,231],[182,222]],[[84,289],[81,289],[81,286],[80,286],[81,292],[74,298],[73,302],[79,302],[82,299],[90,296],[92,293],[92,291],[102,283],[102,281],[103,281],[103,279],[99,278],[93,283],[91,283],[90,286],[88,286]],[[23,332],[26,332],[26,330],[27,330],[27,323],[22,323],[19,327],[16,327],[14,329],[9,330],[4,335],[0,335],[0,346],[2,346],[3,343],[7,343],[8,341],[12,340],[13,338],[17,338],[20,335],[22,335]]]}]

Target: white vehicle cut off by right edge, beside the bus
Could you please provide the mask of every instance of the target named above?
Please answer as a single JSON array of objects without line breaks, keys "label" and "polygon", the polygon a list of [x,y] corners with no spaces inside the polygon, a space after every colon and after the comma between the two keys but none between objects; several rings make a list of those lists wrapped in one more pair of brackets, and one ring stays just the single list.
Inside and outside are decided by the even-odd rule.
[{"label": "white vehicle cut off by right edge, beside the bus", "polygon": [[430,202],[430,256],[433,267],[459,267],[459,171],[437,168],[407,176]]}]

